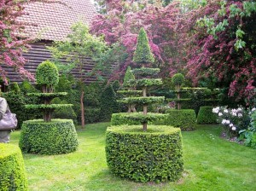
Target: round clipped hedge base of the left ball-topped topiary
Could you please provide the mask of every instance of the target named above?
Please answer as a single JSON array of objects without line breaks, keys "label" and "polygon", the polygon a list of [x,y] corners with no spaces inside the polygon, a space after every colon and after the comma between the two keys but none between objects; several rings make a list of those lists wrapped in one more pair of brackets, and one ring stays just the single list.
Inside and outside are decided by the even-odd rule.
[{"label": "round clipped hedge base of the left ball-topped topiary", "polygon": [[25,121],[20,132],[20,149],[24,153],[71,153],[78,148],[78,135],[72,119]]}]

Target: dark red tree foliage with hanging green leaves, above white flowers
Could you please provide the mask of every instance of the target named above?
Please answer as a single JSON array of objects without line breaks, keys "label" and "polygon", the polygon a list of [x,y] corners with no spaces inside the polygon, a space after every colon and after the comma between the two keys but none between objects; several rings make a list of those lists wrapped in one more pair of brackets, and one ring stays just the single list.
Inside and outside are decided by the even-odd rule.
[{"label": "dark red tree foliage with hanging green leaves, above white flowers", "polygon": [[218,87],[229,87],[236,101],[249,101],[256,93],[256,4],[227,2],[210,1],[184,15],[180,41],[188,50],[188,77],[195,84],[213,77]]}]

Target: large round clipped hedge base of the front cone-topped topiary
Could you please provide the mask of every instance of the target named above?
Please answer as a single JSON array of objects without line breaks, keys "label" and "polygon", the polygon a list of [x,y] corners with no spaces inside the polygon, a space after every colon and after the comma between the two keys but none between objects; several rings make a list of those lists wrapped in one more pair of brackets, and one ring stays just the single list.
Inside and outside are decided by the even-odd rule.
[{"label": "large round clipped hedge base of the front cone-topped topiary", "polygon": [[178,128],[148,125],[108,127],[106,157],[110,171],[136,182],[176,181],[183,171],[182,136]]}]

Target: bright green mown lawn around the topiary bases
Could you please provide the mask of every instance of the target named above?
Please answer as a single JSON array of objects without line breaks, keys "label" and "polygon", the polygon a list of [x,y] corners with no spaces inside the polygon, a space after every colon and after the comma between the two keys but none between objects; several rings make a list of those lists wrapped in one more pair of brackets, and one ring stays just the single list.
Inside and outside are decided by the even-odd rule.
[{"label": "bright green mown lawn around the topiary bases", "polygon": [[[184,173],[178,182],[154,184],[114,177],[105,159],[108,123],[78,130],[79,150],[44,156],[24,154],[30,190],[256,190],[256,150],[218,137],[220,127],[183,132]],[[18,144],[20,132],[12,133]]]}]

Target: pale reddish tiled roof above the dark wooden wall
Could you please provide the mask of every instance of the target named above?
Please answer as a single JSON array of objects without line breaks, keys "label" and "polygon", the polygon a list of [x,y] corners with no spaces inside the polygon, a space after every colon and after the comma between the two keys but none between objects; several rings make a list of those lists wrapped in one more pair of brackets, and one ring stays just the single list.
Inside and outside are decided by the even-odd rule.
[{"label": "pale reddish tiled roof above the dark wooden wall", "polygon": [[89,24],[96,14],[90,0],[61,0],[63,3],[29,3],[19,20],[26,25],[29,36],[44,40],[63,40],[71,32],[70,26],[78,20]]}]

